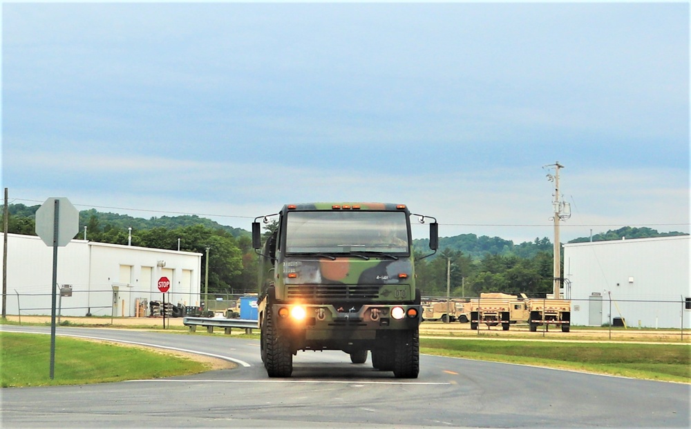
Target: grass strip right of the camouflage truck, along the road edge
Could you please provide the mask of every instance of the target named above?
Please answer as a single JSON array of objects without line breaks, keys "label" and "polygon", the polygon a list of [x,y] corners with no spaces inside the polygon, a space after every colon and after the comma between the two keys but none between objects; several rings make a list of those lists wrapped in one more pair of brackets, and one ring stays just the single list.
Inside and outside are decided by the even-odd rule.
[{"label": "grass strip right of the camouflage truck, along the road edge", "polygon": [[691,347],[668,344],[420,340],[421,352],[691,383]]}]

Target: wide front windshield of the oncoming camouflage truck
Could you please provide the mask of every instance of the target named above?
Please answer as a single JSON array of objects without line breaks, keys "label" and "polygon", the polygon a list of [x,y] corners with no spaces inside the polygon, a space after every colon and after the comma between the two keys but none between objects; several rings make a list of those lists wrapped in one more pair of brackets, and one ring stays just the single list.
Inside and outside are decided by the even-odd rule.
[{"label": "wide front windshield of the oncoming camouflage truck", "polygon": [[404,212],[288,212],[285,252],[408,254]]}]

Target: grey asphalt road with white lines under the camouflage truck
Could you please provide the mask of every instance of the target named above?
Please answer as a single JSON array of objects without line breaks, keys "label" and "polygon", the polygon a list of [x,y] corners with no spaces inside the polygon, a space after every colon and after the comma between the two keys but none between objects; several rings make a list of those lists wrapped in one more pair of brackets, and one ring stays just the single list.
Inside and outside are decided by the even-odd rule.
[{"label": "grey asphalt road with white lines under the camouflage truck", "polygon": [[299,352],[292,378],[269,379],[255,340],[62,326],[57,334],[193,350],[238,367],[169,379],[4,388],[3,428],[691,426],[688,384],[426,355],[418,379],[400,380],[374,370],[369,359],[350,363],[343,352]]}]

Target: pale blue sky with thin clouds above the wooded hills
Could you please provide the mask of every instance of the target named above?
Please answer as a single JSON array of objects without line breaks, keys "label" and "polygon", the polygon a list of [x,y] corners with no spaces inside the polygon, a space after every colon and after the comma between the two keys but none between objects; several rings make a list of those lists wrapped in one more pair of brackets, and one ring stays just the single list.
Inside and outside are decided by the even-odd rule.
[{"label": "pale blue sky with thin clouds above the wooded hills", "polygon": [[[249,229],[387,201],[442,236],[689,231],[689,5],[2,4],[2,186]],[[416,235],[418,233],[416,232]],[[424,230],[419,231],[419,236]]]}]

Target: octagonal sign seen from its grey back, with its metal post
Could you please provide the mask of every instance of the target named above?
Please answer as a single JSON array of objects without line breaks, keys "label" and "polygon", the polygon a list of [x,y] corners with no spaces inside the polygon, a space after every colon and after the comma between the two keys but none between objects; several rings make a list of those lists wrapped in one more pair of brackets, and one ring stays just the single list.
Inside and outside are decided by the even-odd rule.
[{"label": "octagonal sign seen from its grey back, with its metal post", "polygon": [[50,312],[50,379],[55,376],[55,301],[57,295],[57,248],[67,246],[79,231],[79,212],[64,197],[49,198],[36,210],[36,234],[53,246],[53,306]]}]

